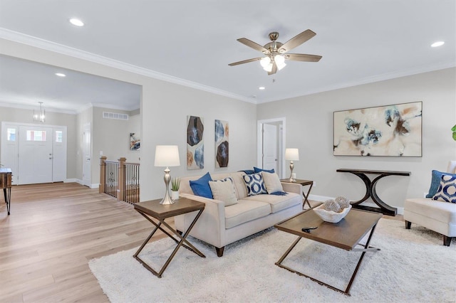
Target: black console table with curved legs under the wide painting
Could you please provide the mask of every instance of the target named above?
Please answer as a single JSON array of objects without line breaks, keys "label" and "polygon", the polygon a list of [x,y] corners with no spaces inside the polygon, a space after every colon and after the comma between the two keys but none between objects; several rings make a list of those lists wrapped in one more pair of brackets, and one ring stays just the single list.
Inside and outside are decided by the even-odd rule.
[{"label": "black console table with curved legs under the wide painting", "polygon": [[[359,201],[351,202],[353,208],[360,208],[366,211],[375,211],[389,216],[396,216],[398,213],[398,208],[389,206],[383,202],[375,191],[375,185],[377,184],[378,180],[382,179],[385,176],[410,176],[411,174],[410,171],[371,171],[366,169],[337,169],[336,171],[340,173],[354,174],[360,177],[366,185],[366,195],[364,195],[364,197]],[[376,174],[379,176],[375,177],[375,179],[371,181],[371,179],[369,179],[366,174]],[[374,203],[377,204],[380,208],[360,205],[369,197],[371,197]]]}]

